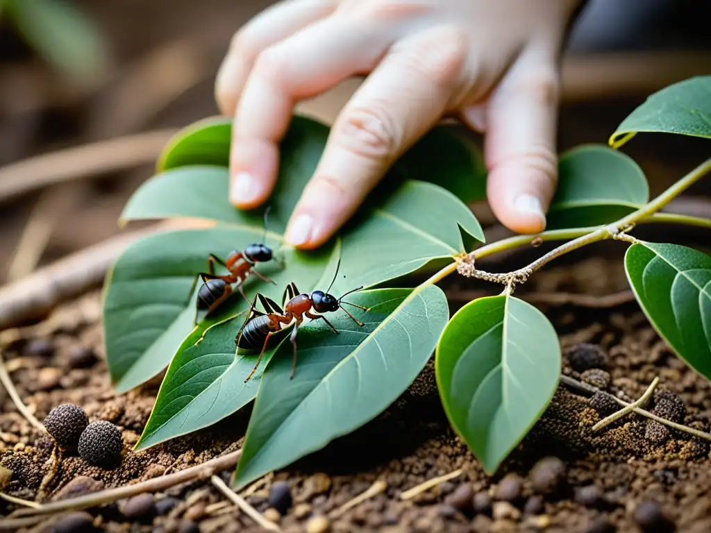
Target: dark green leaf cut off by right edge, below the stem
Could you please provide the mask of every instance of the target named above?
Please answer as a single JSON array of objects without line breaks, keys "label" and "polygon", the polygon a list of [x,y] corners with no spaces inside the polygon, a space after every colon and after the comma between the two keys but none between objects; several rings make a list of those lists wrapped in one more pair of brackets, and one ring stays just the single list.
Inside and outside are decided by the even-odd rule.
[{"label": "dark green leaf cut off by right edge, below the stem", "polygon": [[627,250],[625,269],[654,328],[711,379],[711,257],[678,244],[641,242]]}]

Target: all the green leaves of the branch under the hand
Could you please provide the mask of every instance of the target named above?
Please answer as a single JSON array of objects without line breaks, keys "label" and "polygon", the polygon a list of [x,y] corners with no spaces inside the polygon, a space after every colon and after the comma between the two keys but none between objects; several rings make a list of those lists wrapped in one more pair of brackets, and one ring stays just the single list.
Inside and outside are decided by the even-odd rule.
[{"label": "all the green leaves of the branch under the hand", "polygon": [[[705,129],[711,124],[708,102],[701,97],[709,92],[708,83],[709,77],[693,78],[653,95],[611,142],[620,146],[636,131],[711,136]],[[117,389],[132,389],[168,367],[137,448],[210,426],[256,399],[235,474],[235,483],[243,486],[378,416],[437,347],[437,383],[449,421],[485,470],[496,471],[550,402],[560,377],[560,345],[547,318],[508,291],[468,303],[447,323],[447,300],[434,283],[456,270],[454,259],[483,242],[479,222],[465,205],[485,194],[479,151],[461,132],[438,126],[392,165],[336,237],[319,250],[301,252],[285,244],[284,228],[314,173],[328,128],[293,119],[280,146],[267,232],[262,210],[238,211],[228,202],[230,129],[230,120],[213,118],[181,131],[162,154],[158,174],[139,188],[122,214],[122,222],[210,222],[204,229],[163,232],[137,242],[107,279],[105,339]],[[559,176],[548,229],[573,229],[546,239],[577,237],[587,231],[581,227],[596,226],[590,237],[608,238],[614,233],[608,225],[618,231],[624,225],[627,231],[629,222],[650,210],[640,208],[664,204],[648,203],[641,169],[606,146],[579,146],[562,154]],[[670,194],[696,178],[683,178],[684,187]],[[257,357],[235,349],[247,303],[232,296],[214,316],[193,325],[196,292],[188,291],[194,276],[205,270],[208,254],[224,258],[262,238],[274,249],[275,260],[258,264],[257,270],[276,284],[250,276],[244,285],[250,297],[258,291],[281,301],[289,282],[310,292],[326,289],[333,279],[330,292],[336,296],[365,286],[347,299],[370,309],[353,312],[365,323],[362,328],[343,311],[328,313],[338,335],[321,321],[301,325],[293,379],[286,337],[294,326],[287,326],[245,382]],[[477,257],[508,243],[478,250]],[[530,265],[524,277],[552,257]],[[447,266],[414,289],[392,288],[434,264]],[[654,327],[692,367],[711,377],[711,258],[673,244],[640,242],[629,248],[625,264]],[[498,279],[513,286],[522,282],[515,274]]]}]

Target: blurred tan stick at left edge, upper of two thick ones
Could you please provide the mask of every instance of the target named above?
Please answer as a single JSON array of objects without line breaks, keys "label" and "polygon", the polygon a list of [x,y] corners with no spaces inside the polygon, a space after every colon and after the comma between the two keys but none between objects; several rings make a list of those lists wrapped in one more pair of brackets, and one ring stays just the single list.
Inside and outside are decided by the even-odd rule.
[{"label": "blurred tan stick at left edge, upper of two thick ones", "polygon": [[174,129],[148,131],[12,163],[0,168],[0,202],[54,183],[151,163],[175,133]]}]

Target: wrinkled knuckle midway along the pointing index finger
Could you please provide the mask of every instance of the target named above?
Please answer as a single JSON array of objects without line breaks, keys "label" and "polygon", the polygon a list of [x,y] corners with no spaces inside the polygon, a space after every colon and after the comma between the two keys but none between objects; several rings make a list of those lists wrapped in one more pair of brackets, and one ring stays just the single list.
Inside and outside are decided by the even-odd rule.
[{"label": "wrinkled knuckle midway along the pointing index finger", "polygon": [[365,158],[390,158],[398,145],[397,126],[385,112],[350,109],[339,121],[339,126],[338,143]]}]

